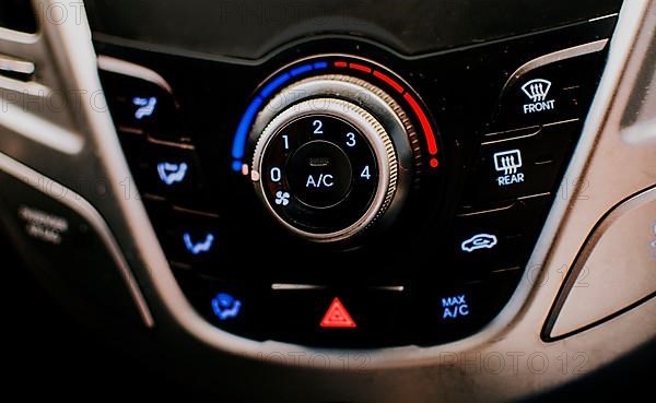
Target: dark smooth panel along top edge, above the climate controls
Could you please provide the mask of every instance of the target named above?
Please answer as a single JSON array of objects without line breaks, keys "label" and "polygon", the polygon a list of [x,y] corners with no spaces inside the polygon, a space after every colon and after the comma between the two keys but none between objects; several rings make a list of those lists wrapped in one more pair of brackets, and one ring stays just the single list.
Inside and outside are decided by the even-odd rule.
[{"label": "dark smooth panel along top edge, above the climate controls", "polygon": [[[320,34],[374,39],[403,55],[475,45],[616,13],[620,0],[90,0],[99,40],[259,59]],[[192,22],[192,23],[189,23]]]}]

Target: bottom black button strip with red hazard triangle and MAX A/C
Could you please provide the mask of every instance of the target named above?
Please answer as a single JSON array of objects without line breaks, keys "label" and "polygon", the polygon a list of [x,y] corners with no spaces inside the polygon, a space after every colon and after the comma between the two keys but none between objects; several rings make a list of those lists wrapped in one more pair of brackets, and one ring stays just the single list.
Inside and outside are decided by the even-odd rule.
[{"label": "bottom black button strip with red hazard triangle and MAX A/C", "polygon": [[304,345],[431,345],[471,334],[508,300],[520,271],[453,286],[303,286],[180,278],[195,306],[226,331]]}]

